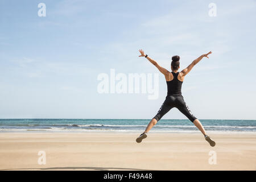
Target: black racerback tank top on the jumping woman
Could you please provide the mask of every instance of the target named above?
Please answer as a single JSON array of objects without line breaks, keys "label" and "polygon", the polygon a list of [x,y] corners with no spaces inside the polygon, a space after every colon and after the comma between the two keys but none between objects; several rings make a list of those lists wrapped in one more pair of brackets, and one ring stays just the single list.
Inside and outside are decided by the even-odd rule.
[{"label": "black racerback tank top on the jumping woman", "polygon": [[174,79],[171,81],[166,81],[167,82],[167,96],[181,96],[181,86],[183,81],[179,81],[177,79],[177,76],[179,75],[179,72],[174,73],[171,72],[172,75],[174,76]]}]

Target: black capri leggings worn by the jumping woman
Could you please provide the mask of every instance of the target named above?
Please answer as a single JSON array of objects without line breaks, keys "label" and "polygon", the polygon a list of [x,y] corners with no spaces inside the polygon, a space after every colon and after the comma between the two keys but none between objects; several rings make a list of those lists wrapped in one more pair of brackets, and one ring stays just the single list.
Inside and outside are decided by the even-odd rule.
[{"label": "black capri leggings worn by the jumping woman", "polygon": [[195,115],[191,113],[191,110],[188,108],[187,104],[184,101],[183,96],[166,96],[166,100],[163,105],[160,107],[158,114],[155,115],[156,121],[159,121],[164,114],[168,113],[173,107],[176,107],[183,113],[191,122],[195,119]]}]

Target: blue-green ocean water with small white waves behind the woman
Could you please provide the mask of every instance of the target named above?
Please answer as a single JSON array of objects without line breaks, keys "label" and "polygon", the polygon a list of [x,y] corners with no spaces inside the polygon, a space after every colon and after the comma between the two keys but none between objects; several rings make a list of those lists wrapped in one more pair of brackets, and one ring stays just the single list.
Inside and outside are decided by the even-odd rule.
[{"label": "blue-green ocean water with small white waves behind the woman", "polygon": [[[11,131],[144,131],[150,119],[0,119],[0,132]],[[207,131],[256,132],[256,120],[201,119]],[[188,119],[161,119],[151,131],[199,131]]]}]

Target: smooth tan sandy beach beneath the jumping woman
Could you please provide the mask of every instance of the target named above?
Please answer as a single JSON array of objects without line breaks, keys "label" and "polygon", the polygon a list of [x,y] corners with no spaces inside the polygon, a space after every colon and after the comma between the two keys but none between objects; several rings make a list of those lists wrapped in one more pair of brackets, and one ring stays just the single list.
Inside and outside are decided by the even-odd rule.
[{"label": "smooth tan sandy beach beneath the jumping woman", "polygon": [[[199,133],[150,133],[142,143],[135,142],[137,135],[121,132],[1,133],[0,169],[256,169],[256,134],[210,133],[217,143],[215,147],[210,147]],[[38,163],[39,151],[46,152],[46,164]]]}]

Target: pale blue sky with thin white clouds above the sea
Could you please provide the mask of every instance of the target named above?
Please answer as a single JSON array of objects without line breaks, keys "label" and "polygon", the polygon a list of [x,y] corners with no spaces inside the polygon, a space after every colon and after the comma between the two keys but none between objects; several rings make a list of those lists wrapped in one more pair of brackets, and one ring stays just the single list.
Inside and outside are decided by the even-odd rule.
[{"label": "pale blue sky with thin white clouds above the sea", "polygon": [[[39,16],[39,3],[46,16]],[[210,16],[214,10],[216,16]],[[40,11],[42,12],[42,11]],[[164,76],[212,51],[185,77],[199,119],[256,119],[256,1],[0,0],[0,118],[151,119]],[[98,76],[159,73],[159,96],[99,93]],[[117,82],[117,81],[116,81]],[[172,109],[163,119],[186,119]]]}]

